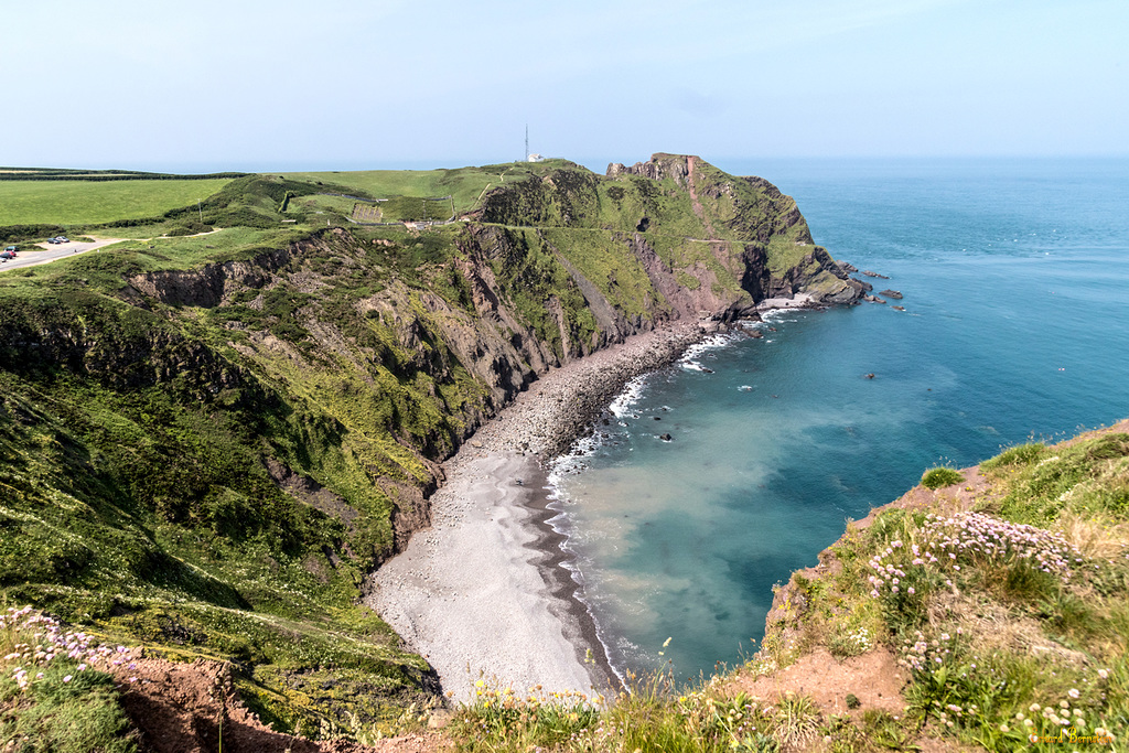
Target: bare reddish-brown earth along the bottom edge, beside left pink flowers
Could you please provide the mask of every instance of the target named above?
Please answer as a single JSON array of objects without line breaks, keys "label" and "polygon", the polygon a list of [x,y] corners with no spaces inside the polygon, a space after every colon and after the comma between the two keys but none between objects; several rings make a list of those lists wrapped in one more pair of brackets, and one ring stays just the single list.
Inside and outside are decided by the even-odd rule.
[{"label": "bare reddish-brown earth along the bottom edge, beside left pink flowers", "polygon": [[[449,750],[438,733],[391,737],[378,745],[309,741],[271,730],[243,704],[228,665],[138,658],[115,669],[122,707],[146,753],[430,753]],[[131,678],[135,678],[130,682]],[[222,724],[221,724],[222,720]],[[222,738],[221,738],[222,735]]]}]

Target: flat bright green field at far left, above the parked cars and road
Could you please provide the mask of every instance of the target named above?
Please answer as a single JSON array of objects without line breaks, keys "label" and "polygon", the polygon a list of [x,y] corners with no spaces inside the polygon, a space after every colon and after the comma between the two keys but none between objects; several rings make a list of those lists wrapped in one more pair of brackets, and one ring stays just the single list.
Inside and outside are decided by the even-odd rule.
[{"label": "flat bright green field at far left, above the parked cars and road", "polygon": [[0,226],[93,225],[157,217],[207,199],[229,180],[0,181]]}]

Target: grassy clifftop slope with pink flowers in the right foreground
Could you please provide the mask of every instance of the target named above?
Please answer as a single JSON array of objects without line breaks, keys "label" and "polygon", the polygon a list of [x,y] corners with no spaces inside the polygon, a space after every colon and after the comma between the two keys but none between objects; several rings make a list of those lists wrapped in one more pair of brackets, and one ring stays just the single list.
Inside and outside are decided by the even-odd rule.
[{"label": "grassy clifftop slope with pink flowers in the right foreground", "polygon": [[987,750],[1027,750],[1029,735],[1059,728],[1123,741],[1129,426],[1118,428],[1013,448],[956,485],[926,474],[951,485],[849,527],[821,558],[838,572],[794,577],[789,601],[805,606],[785,607],[756,666],[887,647],[926,735]]}]

